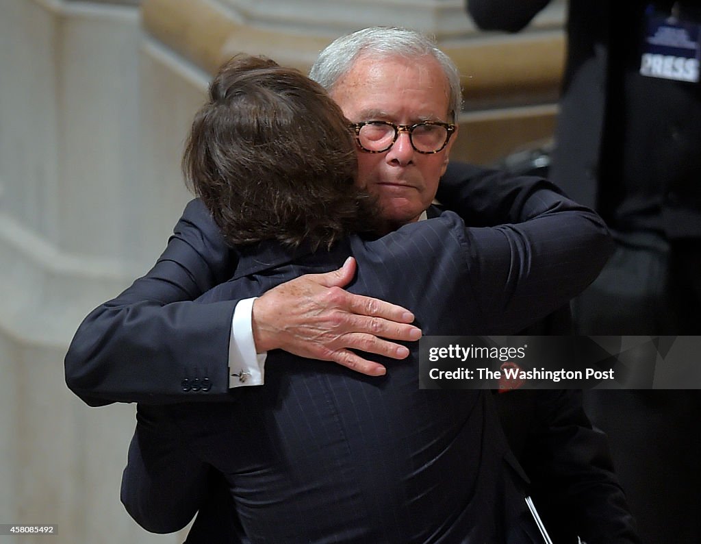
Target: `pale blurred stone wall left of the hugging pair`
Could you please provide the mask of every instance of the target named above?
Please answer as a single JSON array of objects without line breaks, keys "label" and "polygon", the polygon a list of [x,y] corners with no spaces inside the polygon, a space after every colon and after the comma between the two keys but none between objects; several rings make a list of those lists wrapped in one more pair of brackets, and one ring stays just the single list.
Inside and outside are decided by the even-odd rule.
[{"label": "pale blurred stone wall left of the hugging pair", "polygon": [[2,1],[0,524],[57,524],[60,543],[182,541],[119,502],[133,406],[88,408],[62,367],[189,199],[179,154],[207,76],[149,43],[137,4]]}]

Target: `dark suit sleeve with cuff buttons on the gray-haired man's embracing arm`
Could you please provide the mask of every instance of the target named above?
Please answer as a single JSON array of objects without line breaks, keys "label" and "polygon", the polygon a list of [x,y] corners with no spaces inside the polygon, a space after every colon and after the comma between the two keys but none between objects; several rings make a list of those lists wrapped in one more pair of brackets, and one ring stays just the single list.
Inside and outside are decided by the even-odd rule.
[{"label": "dark suit sleeve with cuff buttons on the gray-haired man's embracing arm", "polygon": [[237,262],[205,206],[191,201],[156,265],[79,326],[64,360],[68,387],[90,406],[226,397],[238,300],[192,300]]}]

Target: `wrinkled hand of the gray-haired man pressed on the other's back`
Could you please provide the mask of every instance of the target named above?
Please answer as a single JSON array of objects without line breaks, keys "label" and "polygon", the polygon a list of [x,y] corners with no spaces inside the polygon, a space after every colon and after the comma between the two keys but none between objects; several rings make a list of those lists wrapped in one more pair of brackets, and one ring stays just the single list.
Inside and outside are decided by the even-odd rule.
[{"label": "wrinkled hand of the gray-haired man pressed on the other's back", "polygon": [[[253,303],[253,339],[258,352],[285,350],[301,357],[334,361],[368,376],[386,369],[350,349],[404,359],[407,347],[389,340],[413,341],[421,330],[410,325],[414,314],[376,298],[343,289],[357,265],[325,274],[307,274],[281,284]],[[389,339],[389,340],[386,340]]]}]

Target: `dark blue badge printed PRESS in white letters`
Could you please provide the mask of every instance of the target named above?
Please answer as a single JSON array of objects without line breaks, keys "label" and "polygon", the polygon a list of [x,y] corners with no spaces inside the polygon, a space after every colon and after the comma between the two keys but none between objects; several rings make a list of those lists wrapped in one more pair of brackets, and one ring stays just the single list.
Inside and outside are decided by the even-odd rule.
[{"label": "dark blue badge printed PRESS in white letters", "polygon": [[647,32],[643,42],[640,73],[648,77],[699,81],[700,25],[646,10]]}]

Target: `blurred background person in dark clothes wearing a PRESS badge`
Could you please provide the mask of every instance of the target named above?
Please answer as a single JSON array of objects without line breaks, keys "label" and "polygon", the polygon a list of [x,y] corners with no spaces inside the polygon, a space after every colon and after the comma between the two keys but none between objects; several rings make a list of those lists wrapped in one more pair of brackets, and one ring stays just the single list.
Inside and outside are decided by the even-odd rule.
[{"label": "blurred background person in dark clothes wearing a PRESS badge", "polygon": [[[549,0],[468,0],[519,32]],[[570,0],[549,177],[594,207],[617,248],[573,301],[583,335],[701,331],[701,2]],[[645,543],[701,542],[695,390],[585,392]]]}]

